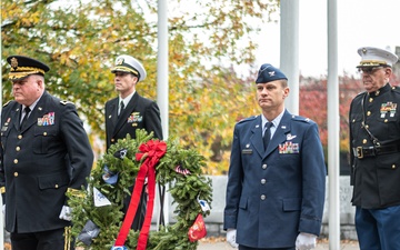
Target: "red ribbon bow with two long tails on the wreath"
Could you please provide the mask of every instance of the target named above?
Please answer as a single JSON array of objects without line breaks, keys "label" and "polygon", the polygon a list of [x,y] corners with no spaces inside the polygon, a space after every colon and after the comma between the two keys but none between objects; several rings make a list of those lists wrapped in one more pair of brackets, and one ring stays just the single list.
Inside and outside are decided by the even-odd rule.
[{"label": "red ribbon bow with two long tails on the wreath", "polygon": [[139,147],[139,152],[136,154],[137,161],[144,161],[140,166],[137,181],[133,188],[133,193],[129,203],[129,208],[126,218],[122,222],[120,232],[117,237],[116,247],[123,246],[130,227],[133,222],[134,214],[139,207],[140,196],[143,190],[144,179],[148,177],[149,201],[146,210],[146,218],[143,226],[140,230],[137,250],[146,250],[147,240],[149,238],[149,230],[151,224],[151,216],[154,206],[154,191],[156,191],[156,164],[167,152],[167,143],[159,140],[149,140],[147,143],[142,143]]}]

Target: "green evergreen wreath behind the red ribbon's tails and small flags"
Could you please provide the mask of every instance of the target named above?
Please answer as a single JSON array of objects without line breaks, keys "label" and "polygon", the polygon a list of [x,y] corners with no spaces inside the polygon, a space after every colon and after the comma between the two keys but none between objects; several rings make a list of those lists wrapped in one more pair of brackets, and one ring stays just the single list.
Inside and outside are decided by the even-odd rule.
[{"label": "green evergreen wreath behind the red ribbon's tails and small flags", "polygon": [[[152,133],[137,130],[136,139],[128,134],[126,139],[118,140],[108,152],[98,161],[97,167],[88,178],[88,188],[80,191],[68,191],[68,204],[72,208],[71,236],[77,241],[77,247],[90,250],[111,249],[119,233],[123,220],[123,198],[130,196],[129,188],[138,174],[141,162],[136,160],[139,147],[152,140]],[[177,140],[168,140],[167,151],[156,166],[156,181],[161,187],[169,187],[169,192],[176,203],[173,211],[176,223],[160,226],[158,231],[150,231],[147,241],[148,250],[196,250],[198,241],[191,242],[188,231],[198,214],[207,217],[209,211],[203,211],[199,200],[211,203],[211,179],[202,176],[206,166],[204,158],[193,149],[182,149]],[[114,154],[124,149],[124,157]],[[114,184],[106,183],[103,168],[118,172]],[[93,187],[99,190],[110,202],[109,206],[96,207],[93,201]],[[159,202],[159,200],[154,200]],[[168,204],[164,204],[168,206]],[[92,221],[100,230],[90,243],[79,240],[86,223]],[[138,244],[140,231],[130,229],[124,246],[134,250]]]}]

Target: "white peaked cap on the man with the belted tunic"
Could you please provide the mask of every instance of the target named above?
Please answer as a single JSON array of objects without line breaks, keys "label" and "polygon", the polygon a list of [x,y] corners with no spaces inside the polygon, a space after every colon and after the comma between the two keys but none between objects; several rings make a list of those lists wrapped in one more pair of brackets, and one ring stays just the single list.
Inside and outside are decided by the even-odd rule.
[{"label": "white peaked cap on the man with the belted tunic", "polygon": [[392,67],[398,61],[398,56],[394,53],[374,47],[361,47],[358,49],[361,56],[360,64],[357,68],[389,66]]}]

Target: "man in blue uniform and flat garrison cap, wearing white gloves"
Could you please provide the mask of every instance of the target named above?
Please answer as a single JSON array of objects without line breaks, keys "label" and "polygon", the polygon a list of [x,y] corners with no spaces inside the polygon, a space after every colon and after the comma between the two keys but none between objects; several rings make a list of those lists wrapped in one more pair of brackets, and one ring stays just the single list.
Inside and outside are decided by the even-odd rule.
[{"label": "man in blue uniform and flat garrison cap, wearing white gloves", "polygon": [[318,127],[284,109],[288,79],[257,78],[261,116],[234,127],[223,228],[240,250],[312,249],[320,233],[326,166]]}]

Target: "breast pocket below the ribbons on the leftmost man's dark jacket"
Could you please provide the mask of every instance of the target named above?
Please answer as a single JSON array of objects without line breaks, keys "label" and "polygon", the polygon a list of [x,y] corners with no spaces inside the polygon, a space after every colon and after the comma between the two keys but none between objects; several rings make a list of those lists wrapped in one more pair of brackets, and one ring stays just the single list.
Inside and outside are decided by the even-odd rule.
[{"label": "breast pocket below the ribbons on the leftmost man's dark jacket", "polygon": [[53,126],[43,126],[34,128],[33,152],[48,153],[54,143],[57,143],[58,128]]}]

